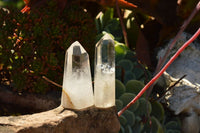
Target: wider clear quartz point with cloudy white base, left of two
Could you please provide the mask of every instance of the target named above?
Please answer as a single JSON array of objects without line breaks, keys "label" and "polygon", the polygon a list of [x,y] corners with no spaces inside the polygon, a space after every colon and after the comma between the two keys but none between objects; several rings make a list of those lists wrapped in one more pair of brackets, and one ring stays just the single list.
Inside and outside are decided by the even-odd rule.
[{"label": "wider clear quartz point with cloudy white base, left of two", "polygon": [[78,41],[66,51],[61,105],[71,109],[94,105],[89,56]]}]

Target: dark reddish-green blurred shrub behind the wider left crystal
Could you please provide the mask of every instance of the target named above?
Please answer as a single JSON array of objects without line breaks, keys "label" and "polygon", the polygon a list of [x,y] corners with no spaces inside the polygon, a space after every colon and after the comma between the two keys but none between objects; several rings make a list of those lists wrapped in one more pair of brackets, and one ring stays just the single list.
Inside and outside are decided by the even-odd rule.
[{"label": "dark reddish-green blurred shrub behind the wider left crystal", "polygon": [[65,50],[79,41],[94,55],[95,23],[76,3],[61,12],[50,1],[22,14],[18,9],[0,9],[1,83],[11,82],[17,91],[46,92],[53,86],[42,76],[62,84]]}]

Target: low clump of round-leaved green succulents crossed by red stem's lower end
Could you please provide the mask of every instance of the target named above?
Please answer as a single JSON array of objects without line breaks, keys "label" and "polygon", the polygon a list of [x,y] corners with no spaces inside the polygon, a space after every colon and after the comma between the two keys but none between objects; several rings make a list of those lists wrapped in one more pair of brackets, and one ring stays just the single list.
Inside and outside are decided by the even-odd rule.
[{"label": "low clump of round-leaved green succulents crossed by red stem's lower end", "polygon": [[[138,80],[130,80],[125,86],[116,79],[117,111],[126,106],[143,87],[144,84]],[[120,133],[179,133],[180,123],[176,119],[166,120],[168,116],[162,104],[150,102],[144,96],[119,117]]]}]

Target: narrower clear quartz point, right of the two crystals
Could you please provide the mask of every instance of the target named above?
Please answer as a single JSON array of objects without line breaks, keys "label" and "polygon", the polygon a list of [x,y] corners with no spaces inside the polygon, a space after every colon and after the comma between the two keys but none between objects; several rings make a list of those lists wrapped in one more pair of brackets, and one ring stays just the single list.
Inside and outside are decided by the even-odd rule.
[{"label": "narrower clear quartz point, right of the two crystals", "polygon": [[115,105],[115,46],[109,34],[104,35],[95,49],[95,106],[108,108]]}]

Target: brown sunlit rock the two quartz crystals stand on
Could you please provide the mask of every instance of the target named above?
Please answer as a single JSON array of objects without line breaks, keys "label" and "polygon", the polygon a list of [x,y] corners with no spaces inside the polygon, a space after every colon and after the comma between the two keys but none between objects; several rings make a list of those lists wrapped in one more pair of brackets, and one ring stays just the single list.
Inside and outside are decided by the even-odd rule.
[{"label": "brown sunlit rock the two quartz crystals stand on", "polygon": [[118,133],[115,107],[79,111],[59,106],[32,115],[0,117],[0,133]]}]

